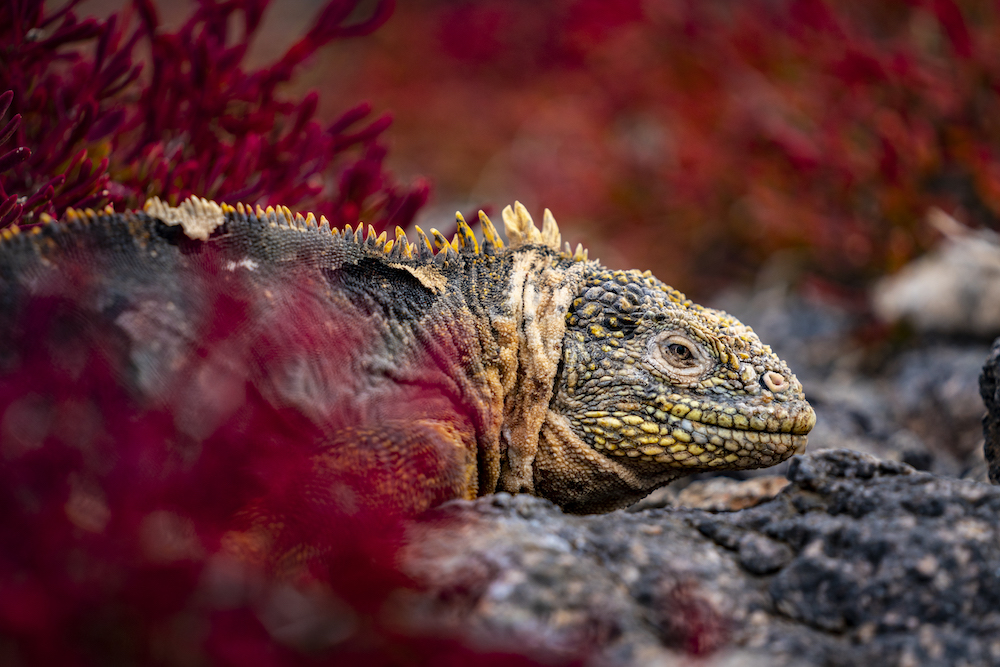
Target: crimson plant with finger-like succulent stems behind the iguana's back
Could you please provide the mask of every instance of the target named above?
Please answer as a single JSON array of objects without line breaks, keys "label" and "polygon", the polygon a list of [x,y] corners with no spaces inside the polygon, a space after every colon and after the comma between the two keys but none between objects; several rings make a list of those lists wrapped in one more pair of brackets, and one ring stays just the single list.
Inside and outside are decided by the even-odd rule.
[{"label": "crimson plant with finger-like succulent stems behind the iguana's back", "polygon": [[0,130],[0,144],[15,146],[0,155],[0,226],[197,194],[391,228],[426,200],[426,182],[401,187],[383,168],[388,115],[365,123],[371,107],[359,104],[324,127],[317,93],[281,93],[318,49],[384,23],[391,0],[361,20],[358,0],[331,0],[283,56],[250,71],[268,0],[202,0],[173,31],[151,0],[106,20],[79,19],[78,4],[0,5],[0,91],[13,92],[0,97],[0,117],[15,114]]}]

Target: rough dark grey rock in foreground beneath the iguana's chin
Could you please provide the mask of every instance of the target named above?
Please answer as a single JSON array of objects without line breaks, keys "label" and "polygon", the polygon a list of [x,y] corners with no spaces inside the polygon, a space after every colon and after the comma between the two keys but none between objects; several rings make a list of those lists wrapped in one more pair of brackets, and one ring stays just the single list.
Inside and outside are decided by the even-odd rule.
[{"label": "rough dark grey rock in foreground beneath the iguana's chin", "polygon": [[846,450],[789,479],[734,512],[449,503],[401,622],[590,664],[1000,663],[1000,488]]}]

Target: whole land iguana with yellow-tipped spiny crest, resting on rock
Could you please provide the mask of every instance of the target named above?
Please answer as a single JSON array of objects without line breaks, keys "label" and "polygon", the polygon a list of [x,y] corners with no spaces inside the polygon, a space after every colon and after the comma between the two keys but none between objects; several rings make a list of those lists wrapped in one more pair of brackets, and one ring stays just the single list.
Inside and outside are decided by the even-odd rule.
[{"label": "whole land iguana with yellow-tipped spiny crest, resting on rock", "polygon": [[548,210],[503,221],[507,245],[482,213],[481,240],[459,215],[454,239],[410,242],[191,198],[5,229],[0,378],[39,350],[76,372],[89,336],[186,442],[257,397],[317,479],[408,513],[496,491],[604,512],[803,451],[814,412],[749,327],[561,246]]}]

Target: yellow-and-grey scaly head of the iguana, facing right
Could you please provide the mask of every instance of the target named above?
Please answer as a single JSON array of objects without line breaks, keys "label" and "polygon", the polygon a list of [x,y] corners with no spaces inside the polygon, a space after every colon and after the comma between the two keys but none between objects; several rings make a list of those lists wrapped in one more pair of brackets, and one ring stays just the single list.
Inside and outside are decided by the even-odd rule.
[{"label": "yellow-and-grey scaly head of the iguana, facing right", "polygon": [[815,413],[750,327],[648,271],[573,256],[582,271],[534,460],[536,494],[605,511],[684,474],[766,467],[805,449]]}]

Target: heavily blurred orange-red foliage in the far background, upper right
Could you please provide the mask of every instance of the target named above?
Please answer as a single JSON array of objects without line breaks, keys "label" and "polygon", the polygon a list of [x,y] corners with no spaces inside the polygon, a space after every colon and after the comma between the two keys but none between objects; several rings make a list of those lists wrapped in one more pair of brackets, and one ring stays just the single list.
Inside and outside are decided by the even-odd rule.
[{"label": "heavily blurred orange-red foliage in the far background, upper right", "polygon": [[932,205],[998,226],[998,29],[977,0],[420,0],[353,90],[442,199],[548,206],[702,294],[779,250],[859,286]]}]

